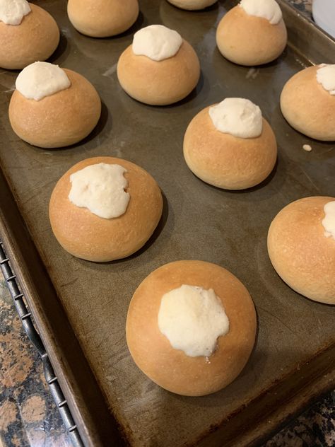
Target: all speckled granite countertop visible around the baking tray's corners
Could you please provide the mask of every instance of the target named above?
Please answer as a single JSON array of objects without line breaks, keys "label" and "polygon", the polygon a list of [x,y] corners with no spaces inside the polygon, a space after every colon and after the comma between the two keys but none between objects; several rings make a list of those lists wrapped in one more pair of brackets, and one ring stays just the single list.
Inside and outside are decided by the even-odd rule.
[{"label": "all speckled granite countertop visible around the baking tray's corners", "polygon": [[[311,17],[312,0],[290,0]],[[0,447],[70,447],[42,362],[23,331],[0,273]],[[264,447],[335,445],[335,393],[317,402]]]}]

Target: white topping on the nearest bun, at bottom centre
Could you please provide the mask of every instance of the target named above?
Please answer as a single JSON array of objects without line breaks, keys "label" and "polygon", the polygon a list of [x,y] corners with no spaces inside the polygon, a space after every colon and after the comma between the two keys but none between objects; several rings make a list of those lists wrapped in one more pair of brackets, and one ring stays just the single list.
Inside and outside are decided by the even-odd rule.
[{"label": "white topping on the nearest bun, at bottom centre", "polygon": [[211,356],[229,320],[213,289],[182,285],[163,295],[158,327],[171,346],[187,356]]}]

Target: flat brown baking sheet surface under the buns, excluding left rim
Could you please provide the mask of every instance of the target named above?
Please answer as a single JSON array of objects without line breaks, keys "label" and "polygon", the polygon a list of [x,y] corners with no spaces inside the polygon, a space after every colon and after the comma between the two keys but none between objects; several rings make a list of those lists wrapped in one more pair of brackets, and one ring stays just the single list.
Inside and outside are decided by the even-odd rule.
[{"label": "flat brown baking sheet surface under the buns, excluding left rim", "polygon": [[[242,414],[249,402],[274,383],[289,381],[297,368],[334,344],[334,308],[290,290],[274,272],[266,252],[269,224],[282,207],[300,197],[335,196],[334,144],[295,132],[278,105],[281,88],[296,71],[310,62],[335,62],[331,60],[334,42],[309,24],[302,26],[303,21],[288,9],[288,23],[295,27],[293,46],[298,51],[288,47],[276,62],[248,68],[226,61],[215,46],[216,25],[235,1],[187,13],[165,0],[143,0],[135,27],[120,37],[103,40],[74,30],[66,18],[65,1],[36,3],[51,12],[61,28],[61,45],[52,62],[80,72],[95,85],[103,101],[102,118],[90,137],[69,149],[47,151],[29,146],[13,134],[6,114],[17,72],[3,71],[1,166],[127,442],[132,446],[192,445],[233,414]],[[119,54],[131,43],[135,30],[151,23],[180,31],[201,59],[196,91],[177,105],[154,108],[137,103],[117,82]],[[300,45],[309,34],[306,30],[315,33],[318,51],[309,35],[311,43],[303,54]],[[228,192],[206,185],[189,171],[182,156],[189,121],[202,108],[227,96],[257,103],[276,134],[276,168],[251,190]],[[303,151],[303,144],[310,144],[312,152]],[[163,218],[157,231],[145,248],[126,260],[106,264],[78,260],[64,252],[52,236],[49,195],[67,169],[91,156],[133,161],[148,170],[163,191]],[[173,395],[151,383],[131,361],[125,341],[127,308],[136,287],[153,269],[180,259],[216,262],[229,269],[247,286],[257,309],[257,347],[249,363],[228,388],[206,397]],[[227,422],[223,425],[228,428]]]}]

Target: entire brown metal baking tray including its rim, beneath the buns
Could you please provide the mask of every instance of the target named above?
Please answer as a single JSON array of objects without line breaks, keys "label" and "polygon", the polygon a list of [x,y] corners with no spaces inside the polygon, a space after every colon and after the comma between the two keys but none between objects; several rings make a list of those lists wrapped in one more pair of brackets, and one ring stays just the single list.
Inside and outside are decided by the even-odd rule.
[{"label": "entire brown metal baking tray including its rim, beneath the buns", "polygon": [[[228,62],[215,45],[218,21],[237,1],[191,13],[165,0],[140,0],[134,27],[110,39],[77,33],[66,17],[66,1],[37,2],[61,28],[52,62],[86,76],[103,102],[98,127],[71,148],[38,149],[13,134],[7,110],[17,72],[0,73],[1,236],[87,446],[256,445],[334,387],[335,309],[281,281],[266,252],[266,233],[289,202],[335,196],[334,144],[295,132],[278,105],[284,83],[296,71],[335,62],[335,42],[278,2],[289,45],[278,60],[257,68]],[[151,23],[180,31],[201,59],[196,91],[176,105],[138,103],[117,81],[119,54],[135,30]],[[182,156],[189,121],[227,96],[257,103],[278,142],[274,172],[240,192],[201,182]],[[304,151],[303,144],[312,151]],[[49,226],[48,203],[70,166],[108,155],[148,170],[163,191],[164,211],[143,249],[99,264],[76,259],[59,246]],[[257,344],[247,366],[228,388],[206,397],[181,397],[149,381],[131,361],[124,335],[136,287],[153,269],[180,259],[226,267],[247,286],[257,309]]]}]

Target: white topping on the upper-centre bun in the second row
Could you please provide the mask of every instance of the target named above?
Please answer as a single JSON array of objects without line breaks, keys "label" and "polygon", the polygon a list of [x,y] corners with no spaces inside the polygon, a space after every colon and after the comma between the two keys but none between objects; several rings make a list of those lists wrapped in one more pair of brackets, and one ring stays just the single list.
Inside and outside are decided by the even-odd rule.
[{"label": "white topping on the upper-centre bun in the second row", "polygon": [[175,56],[182,46],[182,36],[163,25],[150,25],[134,34],[133,52],[163,61]]}]

